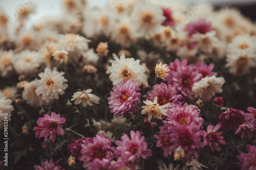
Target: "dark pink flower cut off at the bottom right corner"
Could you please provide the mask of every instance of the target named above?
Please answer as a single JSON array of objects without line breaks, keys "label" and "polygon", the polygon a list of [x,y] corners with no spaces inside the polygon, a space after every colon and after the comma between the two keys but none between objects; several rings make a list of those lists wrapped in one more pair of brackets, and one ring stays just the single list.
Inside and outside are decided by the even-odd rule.
[{"label": "dark pink flower cut off at the bottom right corner", "polygon": [[240,166],[241,170],[256,169],[256,147],[255,145],[247,144],[248,153],[241,153]]}]

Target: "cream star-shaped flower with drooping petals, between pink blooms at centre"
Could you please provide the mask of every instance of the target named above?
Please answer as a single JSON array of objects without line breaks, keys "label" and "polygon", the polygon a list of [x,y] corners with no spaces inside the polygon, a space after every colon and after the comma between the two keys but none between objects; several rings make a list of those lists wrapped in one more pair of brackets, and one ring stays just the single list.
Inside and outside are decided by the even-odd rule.
[{"label": "cream star-shaped flower with drooping petals, between pink blooms at centre", "polygon": [[164,109],[164,108],[169,106],[170,103],[166,103],[162,106],[159,106],[157,101],[158,101],[157,96],[155,97],[154,102],[149,101],[149,100],[143,101],[143,103],[146,106],[142,106],[142,108],[144,108],[144,109],[141,111],[141,114],[146,114],[147,113],[148,114],[148,118],[147,118],[148,121],[150,121],[152,119],[152,117],[157,118],[157,119],[162,119],[161,114],[166,116],[167,109]]}]

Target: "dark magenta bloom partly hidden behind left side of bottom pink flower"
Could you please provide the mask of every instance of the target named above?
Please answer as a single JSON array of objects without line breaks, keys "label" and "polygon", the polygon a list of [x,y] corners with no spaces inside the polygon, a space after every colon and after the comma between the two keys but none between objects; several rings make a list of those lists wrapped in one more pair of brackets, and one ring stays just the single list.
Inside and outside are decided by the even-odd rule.
[{"label": "dark magenta bloom partly hidden behind left side of bottom pink flower", "polygon": [[80,153],[82,149],[81,144],[84,144],[86,142],[86,138],[83,137],[78,140],[72,139],[71,142],[73,143],[68,145],[69,152],[74,158],[78,160],[82,156],[82,154]]}]

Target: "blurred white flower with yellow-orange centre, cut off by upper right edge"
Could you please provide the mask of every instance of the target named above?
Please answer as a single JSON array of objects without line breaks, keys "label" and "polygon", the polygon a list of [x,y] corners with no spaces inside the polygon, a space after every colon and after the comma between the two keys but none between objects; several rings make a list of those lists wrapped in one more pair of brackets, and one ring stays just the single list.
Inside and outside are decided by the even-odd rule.
[{"label": "blurred white flower with yellow-orange centre, cut off by upper right edge", "polygon": [[[254,41],[253,41],[254,40]],[[228,44],[227,52],[229,54],[236,53],[239,50],[255,50],[256,39],[249,34],[240,34],[234,37]]]}]

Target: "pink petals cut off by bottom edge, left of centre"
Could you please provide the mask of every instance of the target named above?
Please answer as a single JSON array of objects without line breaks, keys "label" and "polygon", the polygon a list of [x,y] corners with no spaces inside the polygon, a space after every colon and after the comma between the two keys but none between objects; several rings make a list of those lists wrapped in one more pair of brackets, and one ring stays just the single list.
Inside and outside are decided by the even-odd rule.
[{"label": "pink petals cut off by bottom edge, left of centre", "polygon": [[111,164],[111,160],[109,159],[100,160],[98,158],[95,158],[90,166],[93,170],[116,170],[124,167],[125,164],[122,161]]}]

